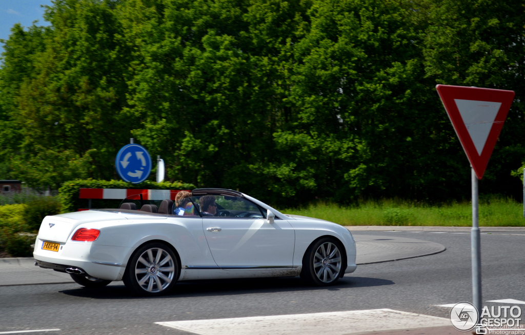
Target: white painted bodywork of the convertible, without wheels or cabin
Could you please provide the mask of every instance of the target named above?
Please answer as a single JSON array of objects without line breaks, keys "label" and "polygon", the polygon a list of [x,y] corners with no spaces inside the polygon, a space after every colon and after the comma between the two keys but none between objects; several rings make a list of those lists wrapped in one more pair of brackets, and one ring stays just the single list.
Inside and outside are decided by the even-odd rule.
[{"label": "white painted bodywork of the convertible, without wheels or cabin", "polygon": [[[356,269],[355,243],[348,229],[328,221],[272,211],[275,222],[258,218],[184,217],[83,211],[46,216],[36,239],[34,257],[51,264],[79,267],[89,276],[121,280],[134,250],[161,240],[180,257],[179,280],[297,276],[308,246],[322,236],[340,240],[346,251],[345,273]],[[53,226],[51,226],[51,225]],[[95,228],[94,242],[74,242],[78,228]],[[219,232],[207,228],[220,227]],[[44,242],[59,243],[58,252],[42,249]]]}]

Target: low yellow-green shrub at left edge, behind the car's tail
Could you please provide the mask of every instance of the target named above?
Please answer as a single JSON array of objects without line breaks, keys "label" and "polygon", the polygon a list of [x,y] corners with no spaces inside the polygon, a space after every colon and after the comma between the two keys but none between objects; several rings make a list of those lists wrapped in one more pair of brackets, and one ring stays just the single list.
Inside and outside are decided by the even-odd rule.
[{"label": "low yellow-green shrub at left edge, behind the car's tail", "polygon": [[[0,206],[0,250],[14,257],[30,256],[35,243],[35,229],[24,221],[25,204]],[[38,227],[37,227],[38,229]]]}]

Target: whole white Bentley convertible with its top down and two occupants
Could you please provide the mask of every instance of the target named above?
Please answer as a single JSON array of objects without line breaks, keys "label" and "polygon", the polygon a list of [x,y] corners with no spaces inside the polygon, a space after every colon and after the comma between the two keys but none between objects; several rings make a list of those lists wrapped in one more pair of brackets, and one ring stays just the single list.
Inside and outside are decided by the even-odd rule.
[{"label": "whole white Bentley convertible with its top down and two occupants", "polygon": [[[223,189],[124,199],[119,208],[46,216],[35,265],[67,272],[78,284],[123,280],[143,296],[177,281],[301,276],[334,284],[355,268],[348,229],[285,215],[246,194]],[[137,210],[140,208],[140,210]]]}]

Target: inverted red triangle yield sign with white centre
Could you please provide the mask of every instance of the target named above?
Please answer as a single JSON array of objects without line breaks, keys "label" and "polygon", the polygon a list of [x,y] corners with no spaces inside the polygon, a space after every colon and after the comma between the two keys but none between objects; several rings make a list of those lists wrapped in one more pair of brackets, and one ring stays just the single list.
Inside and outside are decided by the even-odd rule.
[{"label": "inverted red triangle yield sign with white centre", "polygon": [[514,100],[514,91],[448,85],[437,85],[436,89],[463,150],[481,179]]}]

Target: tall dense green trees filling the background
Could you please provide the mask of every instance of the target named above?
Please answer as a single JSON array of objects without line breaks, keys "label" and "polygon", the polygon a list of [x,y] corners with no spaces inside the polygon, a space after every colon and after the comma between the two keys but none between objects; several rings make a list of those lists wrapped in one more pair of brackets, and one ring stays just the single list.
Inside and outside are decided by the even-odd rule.
[{"label": "tall dense green trees filling the background", "polygon": [[[470,171],[435,91],[446,83],[517,92],[480,190],[519,198],[510,172],[525,156],[524,9],[57,0],[49,27],[15,25],[4,42],[0,171],[52,189],[117,179],[114,156],[135,137],[162,156],[170,182],[280,206],[461,200]],[[87,206],[75,201],[62,211]]]}]

